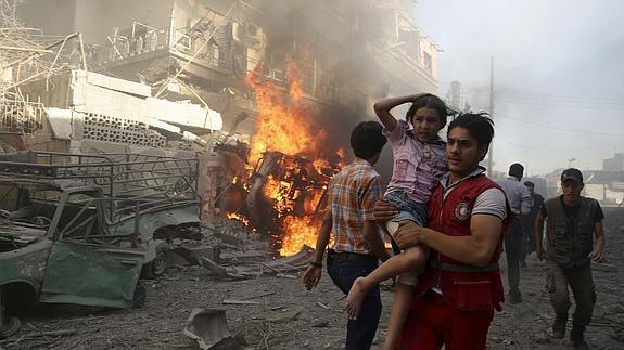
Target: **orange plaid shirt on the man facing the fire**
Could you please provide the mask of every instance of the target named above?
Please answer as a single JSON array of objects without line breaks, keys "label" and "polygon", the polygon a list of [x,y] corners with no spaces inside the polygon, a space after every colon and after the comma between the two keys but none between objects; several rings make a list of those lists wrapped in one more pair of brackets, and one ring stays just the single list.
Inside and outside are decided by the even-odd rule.
[{"label": "orange plaid shirt on the man facing the fire", "polygon": [[[360,158],[331,179],[328,208],[332,215],[334,250],[371,252],[364,237],[364,223],[374,220],[374,204],[382,194],[381,177],[368,161]],[[380,236],[383,238],[381,232]]]}]

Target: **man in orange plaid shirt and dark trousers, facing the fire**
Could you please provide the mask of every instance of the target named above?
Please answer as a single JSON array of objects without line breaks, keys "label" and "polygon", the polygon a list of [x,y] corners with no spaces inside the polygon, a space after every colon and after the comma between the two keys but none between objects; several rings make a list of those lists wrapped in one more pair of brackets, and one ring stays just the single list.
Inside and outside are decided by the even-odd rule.
[{"label": "man in orange plaid shirt and dark trousers, facing the fire", "polygon": [[[333,246],[328,252],[327,270],[334,285],[345,295],[357,277],[377,269],[378,260],[390,258],[373,213],[377,200],[383,195],[381,177],[373,168],[387,141],[382,129],[377,121],[362,121],[352,131],[351,146],[355,160],[329,183],[327,215],[319,230],[313,260],[303,275],[308,290],[320,280],[331,233]],[[379,285],[375,285],[365,295],[357,320],[347,322],[345,349],[369,349],[380,315],[381,295]]]}]

